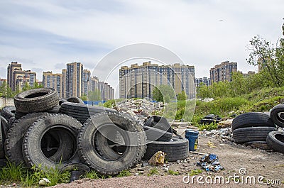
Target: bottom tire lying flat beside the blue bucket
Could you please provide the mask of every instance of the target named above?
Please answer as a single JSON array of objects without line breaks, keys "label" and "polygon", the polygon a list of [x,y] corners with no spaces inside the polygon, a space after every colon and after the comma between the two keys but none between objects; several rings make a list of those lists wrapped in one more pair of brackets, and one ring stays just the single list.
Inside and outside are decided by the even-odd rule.
[{"label": "bottom tire lying flat beside the blue bucket", "polygon": [[170,142],[151,142],[147,144],[145,160],[149,160],[156,152],[163,151],[166,153],[165,160],[177,161],[184,160],[188,157],[188,140],[185,138],[175,138]]}]

